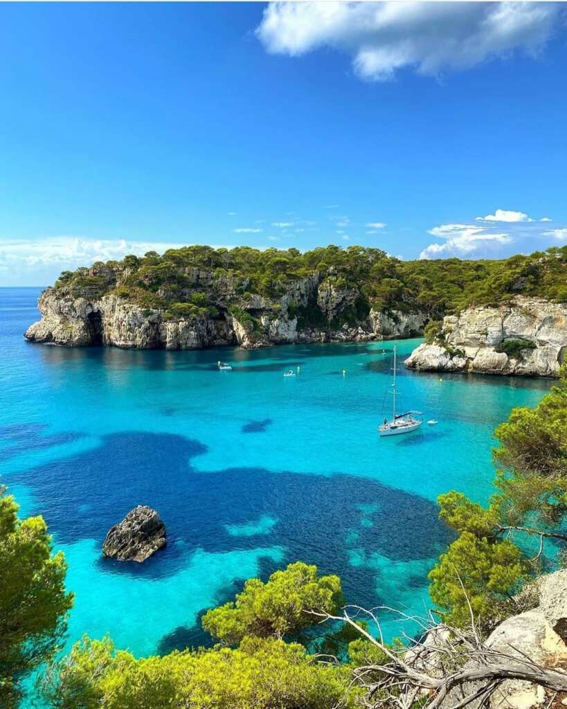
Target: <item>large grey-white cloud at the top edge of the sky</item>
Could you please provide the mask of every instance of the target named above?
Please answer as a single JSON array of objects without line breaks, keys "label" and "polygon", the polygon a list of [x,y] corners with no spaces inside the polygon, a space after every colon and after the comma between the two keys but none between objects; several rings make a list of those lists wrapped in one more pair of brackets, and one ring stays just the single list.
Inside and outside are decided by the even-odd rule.
[{"label": "large grey-white cloud at the top edge of the sky", "polygon": [[515,50],[537,55],[560,21],[558,3],[270,2],[256,35],[268,52],[298,57],[332,48],[363,79],[410,67],[437,76]]}]

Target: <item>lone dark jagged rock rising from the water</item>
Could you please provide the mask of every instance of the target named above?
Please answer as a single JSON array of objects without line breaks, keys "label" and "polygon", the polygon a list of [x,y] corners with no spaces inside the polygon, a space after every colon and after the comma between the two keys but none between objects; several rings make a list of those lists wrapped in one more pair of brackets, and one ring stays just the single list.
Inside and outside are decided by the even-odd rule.
[{"label": "lone dark jagged rock rising from the water", "polygon": [[108,530],[102,552],[120,562],[144,562],[165,545],[165,525],[156,510],[138,505]]}]

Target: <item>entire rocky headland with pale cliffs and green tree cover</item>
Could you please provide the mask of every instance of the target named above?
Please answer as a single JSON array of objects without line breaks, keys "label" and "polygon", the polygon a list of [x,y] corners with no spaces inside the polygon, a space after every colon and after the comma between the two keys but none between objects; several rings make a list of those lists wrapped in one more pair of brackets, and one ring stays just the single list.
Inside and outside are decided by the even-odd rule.
[{"label": "entire rocky headland with pale cliffs and green tree cover", "polygon": [[[427,325],[430,344],[409,367],[554,376],[567,340],[566,284],[567,247],[404,262],[359,246],[191,246],[63,272],[25,335],[69,347],[192,350],[412,337]],[[444,316],[431,339],[428,323]]]}]

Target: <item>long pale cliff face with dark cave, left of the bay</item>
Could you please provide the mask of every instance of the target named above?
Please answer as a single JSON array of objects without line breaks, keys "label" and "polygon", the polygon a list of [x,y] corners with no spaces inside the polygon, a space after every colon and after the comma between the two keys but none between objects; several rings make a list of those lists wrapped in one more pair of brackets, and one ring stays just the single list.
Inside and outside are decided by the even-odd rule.
[{"label": "long pale cliff face with dark cave, left of the bay", "polygon": [[[245,349],[294,342],[352,342],[410,337],[422,332],[427,315],[420,311],[357,315],[359,291],[321,281],[317,272],[291,281],[279,298],[242,293],[230,278],[215,279],[202,269],[187,274],[191,289],[205,293],[214,306],[208,313],[182,317],[143,308],[124,296],[77,295],[65,288],[41,294],[41,320],[26,331],[32,342],[78,347],[114,345],[140,350],[193,350],[217,345]],[[119,285],[119,283],[118,283]],[[167,294],[167,286],[158,291]]]}]

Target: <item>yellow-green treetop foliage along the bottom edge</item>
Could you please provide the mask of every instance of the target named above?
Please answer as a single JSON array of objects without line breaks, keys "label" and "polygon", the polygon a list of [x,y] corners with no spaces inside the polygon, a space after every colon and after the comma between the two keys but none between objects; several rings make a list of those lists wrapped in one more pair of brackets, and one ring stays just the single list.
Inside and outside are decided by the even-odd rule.
[{"label": "yellow-green treetop foliage along the bottom edge", "polygon": [[52,668],[45,696],[52,709],[350,709],[350,681],[347,668],[281,640],[137,660],[85,638]]}]

